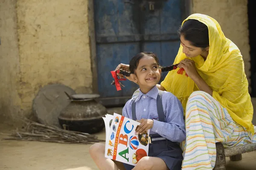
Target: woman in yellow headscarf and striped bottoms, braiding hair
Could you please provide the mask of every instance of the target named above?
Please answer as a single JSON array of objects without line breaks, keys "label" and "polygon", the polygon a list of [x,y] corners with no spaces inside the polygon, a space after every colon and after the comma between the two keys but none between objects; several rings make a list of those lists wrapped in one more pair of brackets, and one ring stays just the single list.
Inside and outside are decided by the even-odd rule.
[{"label": "woman in yellow headscarf and striped bottoms, braiding hair", "polygon": [[[179,68],[170,71],[158,88],[177,96],[185,111],[182,169],[212,169],[215,142],[224,147],[256,142],[244,62],[239,48],[207,15],[190,15],[178,34],[180,49],[174,64]],[[116,70],[120,68],[129,67],[119,64]],[[181,68],[188,77],[177,74]]]}]

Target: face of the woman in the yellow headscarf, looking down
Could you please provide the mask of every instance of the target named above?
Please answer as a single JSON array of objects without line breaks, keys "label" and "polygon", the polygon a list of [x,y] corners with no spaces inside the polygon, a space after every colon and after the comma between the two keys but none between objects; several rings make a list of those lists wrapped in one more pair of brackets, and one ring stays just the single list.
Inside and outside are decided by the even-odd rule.
[{"label": "face of the woman in the yellow headscarf, looking down", "polygon": [[202,57],[207,57],[209,48],[205,48],[203,51],[200,47],[195,47],[191,45],[190,41],[185,40],[184,36],[180,35],[180,44],[183,46],[182,52],[186,54],[186,57],[192,58],[198,55],[202,55]]}]

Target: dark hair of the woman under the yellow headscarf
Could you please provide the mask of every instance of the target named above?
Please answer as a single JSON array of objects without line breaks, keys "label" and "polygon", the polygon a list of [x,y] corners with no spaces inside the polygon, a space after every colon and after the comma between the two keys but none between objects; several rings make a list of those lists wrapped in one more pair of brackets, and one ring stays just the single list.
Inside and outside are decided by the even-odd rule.
[{"label": "dark hair of the woman under the yellow headscarf", "polygon": [[209,47],[209,33],[208,28],[204,23],[198,20],[186,20],[183,26],[177,31],[179,37],[183,35],[185,40],[191,42],[191,45],[200,48]]}]

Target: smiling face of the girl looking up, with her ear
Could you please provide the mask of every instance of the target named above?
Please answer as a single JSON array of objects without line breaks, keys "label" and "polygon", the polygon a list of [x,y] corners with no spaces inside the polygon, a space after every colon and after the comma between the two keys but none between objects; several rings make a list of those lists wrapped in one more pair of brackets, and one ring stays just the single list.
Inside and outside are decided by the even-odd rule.
[{"label": "smiling face of the girl looking up, with her ear", "polygon": [[134,82],[140,86],[140,89],[143,92],[144,89],[144,91],[147,91],[157,85],[160,81],[160,74],[161,69],[158,68],[156,60],[153,57],[145,56],[140,59],[132,79],[134,79]]}]

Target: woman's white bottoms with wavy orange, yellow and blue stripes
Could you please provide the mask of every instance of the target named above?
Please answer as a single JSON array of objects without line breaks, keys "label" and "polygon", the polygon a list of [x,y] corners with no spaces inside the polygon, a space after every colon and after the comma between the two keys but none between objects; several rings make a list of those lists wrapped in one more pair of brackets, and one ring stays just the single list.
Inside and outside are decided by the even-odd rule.
[{"label": "woman's white bottoms with wavy orange, yellow and blue stripes", "polygon": [[256,142],[256,135],[234,122],[227,110],[203,91],[195,91],[189,97],[185,122],[182,170],[213,169],[215,142],[221,142],[225,148]]}]

